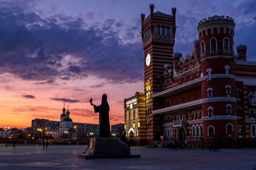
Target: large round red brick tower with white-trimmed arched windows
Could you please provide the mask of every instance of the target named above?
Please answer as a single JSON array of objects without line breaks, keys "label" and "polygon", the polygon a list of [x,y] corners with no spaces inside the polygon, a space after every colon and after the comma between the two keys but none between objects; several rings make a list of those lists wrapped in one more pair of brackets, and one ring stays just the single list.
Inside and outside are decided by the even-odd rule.
[{"label": "large round red brick tower with white-trimmed arched windows", "polygon": [[200,20],[197,27],[200,71],[204,74],[201,81],[204,139],[227,139],[230,146],[237,139],[234,27],[233,18],[218,15]]}]

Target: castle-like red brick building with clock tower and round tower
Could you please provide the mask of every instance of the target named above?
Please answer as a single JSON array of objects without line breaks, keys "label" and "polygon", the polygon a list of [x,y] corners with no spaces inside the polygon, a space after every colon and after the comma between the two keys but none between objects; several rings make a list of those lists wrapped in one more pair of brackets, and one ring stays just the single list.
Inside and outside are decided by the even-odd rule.
[{"label": "castle-like red brick building with clock tower and round tower", "polygon": [[198,23],[195,50],[173,54],[175,12],[141,14],[145,51],[147,141],[161,136],[221,147],[256,143],[256,62],[246,60],[246,45],[234,49],[233,18],[214,15]]}]

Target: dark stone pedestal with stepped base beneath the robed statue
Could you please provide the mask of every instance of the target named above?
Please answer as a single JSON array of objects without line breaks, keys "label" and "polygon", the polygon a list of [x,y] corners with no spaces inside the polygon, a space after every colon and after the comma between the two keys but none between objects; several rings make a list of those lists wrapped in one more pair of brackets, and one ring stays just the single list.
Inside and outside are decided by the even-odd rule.
[{"label": "dark stone pedestal with stepped base beneath the robed statue", "polygon": [[140,155],[130,153],[129,146],[118,138],[91,138],[88,154],[79,154],[79,158],[140,158]]}]

